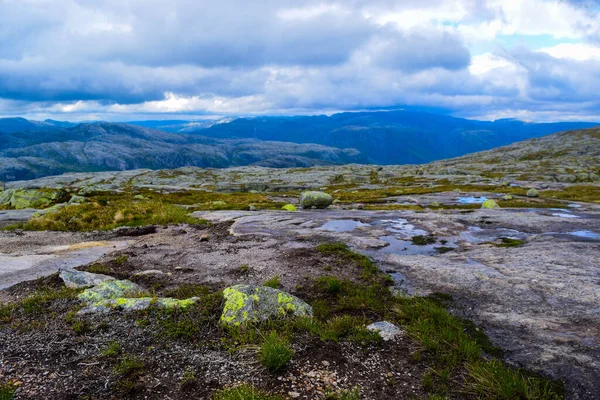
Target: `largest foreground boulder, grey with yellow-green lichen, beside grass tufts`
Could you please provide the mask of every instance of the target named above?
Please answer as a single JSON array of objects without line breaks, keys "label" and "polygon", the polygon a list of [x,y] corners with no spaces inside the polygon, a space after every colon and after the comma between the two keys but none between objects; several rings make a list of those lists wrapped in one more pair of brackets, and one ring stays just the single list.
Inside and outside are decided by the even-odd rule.
[{"label": "largest foreground boulder, grey with yellow-green lichen, beside grass tufts", "polygon": [[312,316],[312,308],[299,298],[267,286],[235,285],[223,291],[221,323],[241,325],[272,317]]}]

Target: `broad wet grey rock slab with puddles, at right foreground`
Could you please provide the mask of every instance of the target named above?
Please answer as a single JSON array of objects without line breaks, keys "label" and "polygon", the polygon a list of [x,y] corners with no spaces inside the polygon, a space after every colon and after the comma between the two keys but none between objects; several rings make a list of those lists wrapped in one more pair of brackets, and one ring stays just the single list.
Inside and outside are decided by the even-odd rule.
[{"label": "broad wet grey rock slab with puddles, at right foreground", "polygon": [[[571,398],[600,398],[595,384],[600,371],[600,212],[593,205],[211,214],[197,213],[233,222],[235,236],[346,243],[377,261],[401,290],[451,294],[456,309],[482,325],[510,361],[566,380]],[[415,245],[411,239],[418,235],[432,235],[435,243]],[[502,238],[523,244],[500,247]]]}]

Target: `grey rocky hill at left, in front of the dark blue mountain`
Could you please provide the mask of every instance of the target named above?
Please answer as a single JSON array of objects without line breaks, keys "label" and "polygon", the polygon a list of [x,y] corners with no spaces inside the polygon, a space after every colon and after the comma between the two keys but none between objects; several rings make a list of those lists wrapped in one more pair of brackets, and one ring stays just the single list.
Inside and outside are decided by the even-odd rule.
[{"label": "grey rocky hill at left, in front of the dark blue mountain", "polygon": [[365,161],[356,150],[316,144],[215,139],[106,122],[73,127],[21,119],[17,123],[32,129],[0,133],[0,180],[136,168],[308,167]]}]

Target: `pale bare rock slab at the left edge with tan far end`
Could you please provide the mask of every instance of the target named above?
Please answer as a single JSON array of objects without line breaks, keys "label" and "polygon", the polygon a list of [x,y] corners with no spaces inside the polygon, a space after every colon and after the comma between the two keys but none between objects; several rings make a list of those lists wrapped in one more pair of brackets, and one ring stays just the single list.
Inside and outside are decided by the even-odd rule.
[{"label": "pale bare rock slab at the left edge with tan far end", "polygon": [[0,253],[0,289],[92,263],[128,245],[127,241],[81,242]]}]

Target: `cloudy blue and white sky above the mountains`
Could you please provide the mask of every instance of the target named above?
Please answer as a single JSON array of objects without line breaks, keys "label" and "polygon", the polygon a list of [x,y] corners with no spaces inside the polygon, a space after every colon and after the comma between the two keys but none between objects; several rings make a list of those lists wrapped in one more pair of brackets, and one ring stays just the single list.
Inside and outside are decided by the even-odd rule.
[{"label": "cloudy blue and white sky above the mountains", "polygon": [[0,116],[600,121],[600,1],[0,0]]}]

